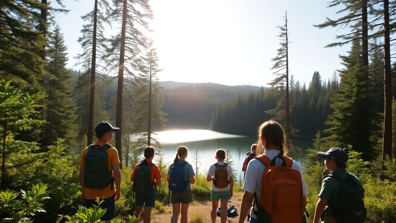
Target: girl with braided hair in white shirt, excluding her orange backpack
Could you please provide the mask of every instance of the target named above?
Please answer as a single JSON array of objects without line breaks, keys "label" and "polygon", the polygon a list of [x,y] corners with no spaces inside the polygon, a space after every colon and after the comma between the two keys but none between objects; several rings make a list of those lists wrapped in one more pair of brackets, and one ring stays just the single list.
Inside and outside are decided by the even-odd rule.
[{"label": "girl with braided hair in white shirt, excluding her orange backpack", "polygon": [[[262,192],[266,192],[266,193],[269,192],[266,191],[268,190],[267,187],[261,185],[263,182],[262,178],[264,176],[265,170],[268,167],[265,164],[268,162],[263,162],[262,160],[269,160],[269,164],[271,164],[270,165],[271,168],[268,168],[268,170],[272,169],[273,166],[284,166],[286,168],[286,166],[284,165],[286,163],[289,165],[288,166],[289,170],[294,169],[298,171],[295,173],[295,176],[297,176],[295,177],[295,179],[299,181],[299,184],[301,184],[301,187],[297,187],[300,188],[299,193],[301,193],[299,194],[301,195],[301,201],[299,198],[301,213],[298,213],[298,215],[299,217],[303,216],[303,210],[307,202],[306,194],[308,194],[308,189],[307,186],[305,185],[300,165],[291,158],[286,156],[288,153],[288,148],[285,147],[284,140],[285,140],[284,130],[278,122],[275,122],[274,120],[269,120],[261,124],[261,126],[259,127],[256,152],[257,154],[262,154],[262,155],[253,158],[247,165],[245,182],[244,182],[244,186],[242,187],[242,190],[244,190],[245,192],[242,197],[239,223],[243,223],[245,221],[249,209],[250,209],[249,223],[261,222],[260,219],[263,219],[263,216],[264,218],[268,217],[268,213],[261,212],[263,211],[263,209],[261,207],[262,200],[260,195]],[[294,170],[291,170],[291,172],[294,172]],[[276,175],[275,177],[281,177],[281,176]],[[254,200],[254,205],[253,208],[251,208],[251,204],[253,200]],[[280,209],[278,209],[278,211],[279,210]],[[265,211],[267,212],[268,210]],[[287,217],[287,216],[289,215],[286,214],[283,217]],[[274,220],[274,216],[272,216],[272,219]],[[287,222],[301,222],[301,218],[287,219]]]}]

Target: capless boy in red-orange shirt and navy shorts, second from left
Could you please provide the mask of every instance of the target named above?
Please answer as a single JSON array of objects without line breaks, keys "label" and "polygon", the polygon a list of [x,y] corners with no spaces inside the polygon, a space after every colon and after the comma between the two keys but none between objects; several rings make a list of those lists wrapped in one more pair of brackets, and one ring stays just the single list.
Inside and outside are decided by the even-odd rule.
[{"label": "capless boy in red-orange shirt and navy shorts, second from left", "polygon": [[[150,223],[151,209],[155,206],[155,185],[161,184],[162,174],[160,168],[152,163],[154,158],[154,147],[147,146],[144,150],[145,159],[136,164],[131,174],[132,188],[135,194],[136,210],[133,215],[140,217],[145,207],[143,223]],[[150,176],[150,178],[148,178]],[[149,180],[149,181],[148,181]],[[147,182],[148,181],[148,182]],[[147,188],[152,186],[151,188]]]}]

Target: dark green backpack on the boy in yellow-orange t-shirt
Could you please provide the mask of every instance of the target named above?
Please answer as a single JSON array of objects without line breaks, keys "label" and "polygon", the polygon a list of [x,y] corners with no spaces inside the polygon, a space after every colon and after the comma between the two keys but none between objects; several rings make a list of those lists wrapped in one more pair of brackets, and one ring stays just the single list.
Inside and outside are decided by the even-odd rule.
[{"label": "dark green backpack on the boy in yellow-orange t-shirt", "polygon": [[89,145],[88,152],[84,158],[84,186],[90,189],[101,189],[113,187],[114,178],[109,171],[109,161],[106,150],[112,147],[110,144]]}]

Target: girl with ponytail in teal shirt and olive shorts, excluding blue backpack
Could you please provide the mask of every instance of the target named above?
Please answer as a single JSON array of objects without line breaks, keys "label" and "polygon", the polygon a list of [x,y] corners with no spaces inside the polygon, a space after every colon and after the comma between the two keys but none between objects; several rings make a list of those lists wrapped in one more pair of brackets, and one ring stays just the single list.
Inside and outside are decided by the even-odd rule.
[{"label": "girl with ponytail in teal shirt and olive shorts, excluding blue backpack", "polygon": [[[169,166],[168,174],[166,175],[166,181],[169,181],[171,169],[175,165],[184,165],[184,180],[187,182],[187,188],[182,192],[172,191],[171,202],[173,207],[173,214],[171,217],[171,223],[177,223],[177,219],[181,213],[180,223],[187,223],[188,206],[192,202],[192,193],[190,184],[195,183],[195,173],[191,164],[185,161],[188,155],[188,149],[185,146],[177,148],[176,157],[173,163]],[[186,164],[187,163],[187,164]]]}]

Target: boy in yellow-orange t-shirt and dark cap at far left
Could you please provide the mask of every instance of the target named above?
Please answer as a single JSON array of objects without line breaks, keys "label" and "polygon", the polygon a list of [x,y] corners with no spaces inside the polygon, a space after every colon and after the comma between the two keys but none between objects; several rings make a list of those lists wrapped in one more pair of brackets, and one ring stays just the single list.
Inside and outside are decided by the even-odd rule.
[{"label": "boy in yellow-orange t-shirt and dark cap at far left", "polygon": [[[102,209],[106,209],[105,215],[101,217],[101,221],[110,223],[111,219],[115,217],[115,201],[120,199],[120,159],[116,148],[108,144],[111,142],[113,132],[119,131],[120,128],[114,128],[109,122],[100,122],[95,127],[96,137],[98,141],[89,145],[82,152],[80,160],[80,184],[82,189],[82,202],[91,208],[94,204],[97,205],[95,199],[103,200],[100,205]],[[107,157],[106,159],[98,159],[95,157]],[[97,177],[91,175],[92,170],[97,171],[99,166],[105,166],[104,172],[106,175],[104,181],[98,180]],[[87,172],[86,172],[87,170]],[[97,174],[96,174],[97,176]],[[116,185],[114,190],[113,182]],[[100,183],[99,185],[97,183]],[[103,187],[102,187],[103,185]]]}]

